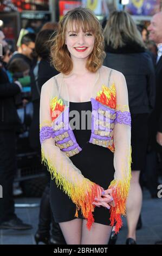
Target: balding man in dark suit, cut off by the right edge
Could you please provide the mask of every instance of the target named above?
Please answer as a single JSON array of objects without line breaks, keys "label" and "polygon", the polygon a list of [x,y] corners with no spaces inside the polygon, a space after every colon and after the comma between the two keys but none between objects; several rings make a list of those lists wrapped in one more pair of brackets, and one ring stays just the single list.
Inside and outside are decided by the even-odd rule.
[{"label": "balding man in dark suit, cut off by the right edge", "polygon": [[[155,78],[156,78],[156,99],[154,111],[151,115],[152,129],[150,131],[150,147],[151,147],[151,161],[148,165],[150,172],[147,175],[147,183],[150,190],[154,191],[156,196],[158,193],[158,175],[157,175],[157,153],[162,159],[162,12],[155,14],[152,17],[150,26],[148,26],[149,39],[154,41],[157,46],[157,59],[155,64]],[[162,240],[155,244],[162,245]]]}]

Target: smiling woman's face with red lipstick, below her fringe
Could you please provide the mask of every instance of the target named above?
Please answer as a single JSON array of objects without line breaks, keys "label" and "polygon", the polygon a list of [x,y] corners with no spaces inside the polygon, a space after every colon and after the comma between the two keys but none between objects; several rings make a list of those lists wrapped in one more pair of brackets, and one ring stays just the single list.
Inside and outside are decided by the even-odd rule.
[{"label": "smiling woman's face with red lipstick, below her fringe", "polygon": [[[72,31],[72,27],[74,31]],[[94,42],[95,36],[91,32],[83,32],[80,28],[77,33],[75,26],[67,26],[65,44],[73,60],[88,58],[93,51]]]}]

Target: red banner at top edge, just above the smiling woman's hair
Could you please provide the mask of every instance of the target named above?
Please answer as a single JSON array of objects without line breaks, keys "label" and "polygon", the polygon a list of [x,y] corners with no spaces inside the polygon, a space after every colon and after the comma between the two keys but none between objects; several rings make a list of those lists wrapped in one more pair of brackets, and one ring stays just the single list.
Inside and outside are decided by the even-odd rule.
[{"label": "red banner at top edge, just above the smiling woman's hair", "polygon": [[80,7],[81,5],[81,1],[59,1],[60,20],[69,10]]}]

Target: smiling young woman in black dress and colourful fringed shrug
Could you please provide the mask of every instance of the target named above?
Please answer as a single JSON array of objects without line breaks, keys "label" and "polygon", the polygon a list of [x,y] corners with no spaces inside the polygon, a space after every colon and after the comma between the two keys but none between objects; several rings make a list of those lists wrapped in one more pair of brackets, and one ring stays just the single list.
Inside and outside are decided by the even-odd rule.
[{"label": "smiling young woman in black dress and colourful fringed shrug", "polygon": [[52,177],[53,215],[69,245],[107,244],[111,225],[118,232],[125,214],[131,116],[125,77],[102,66],[103,42],[92,11],[68,11],[51,47],[61,73],[41,90],[42,160]]}]

